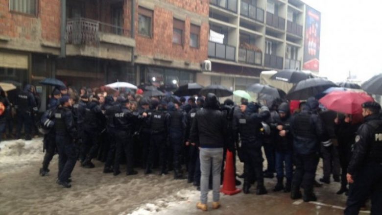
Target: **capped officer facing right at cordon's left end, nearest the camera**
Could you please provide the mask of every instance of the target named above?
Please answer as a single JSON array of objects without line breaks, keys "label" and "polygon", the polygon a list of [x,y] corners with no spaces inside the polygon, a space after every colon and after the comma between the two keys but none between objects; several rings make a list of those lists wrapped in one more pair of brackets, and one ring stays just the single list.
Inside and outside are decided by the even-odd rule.
[{"label": "capped officer facing right at cordon's left end, nearest the camera", "polygon": [[58,180],[57,184],[71,188],[71,173],[77,161],[74,140],[78,139],[77,129],[72,114],[72,103],[69,96],[60,98],[55,117],[55,135],[58,149]]}]

